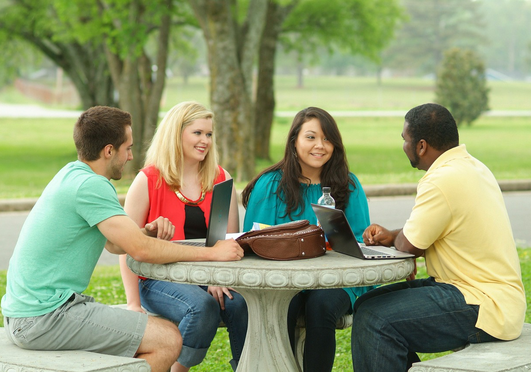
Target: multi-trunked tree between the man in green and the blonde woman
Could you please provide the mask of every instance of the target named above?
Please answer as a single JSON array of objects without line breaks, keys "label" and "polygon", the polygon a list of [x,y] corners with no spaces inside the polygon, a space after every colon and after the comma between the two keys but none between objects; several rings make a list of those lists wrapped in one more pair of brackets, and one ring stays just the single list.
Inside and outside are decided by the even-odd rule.
[{"label": "multi-trunked tree between the man in green and the blonde woman", "polygon": [[[69,0],[70,1],[70,0]],[[172,0],[99,1],[104,48],[120,108],[131,113],[137,146],[129,168],[142,166],[147,145],[158,123],[160,100],[166,82]],[[97,25],[97,23],[96,23]],[[156,32],[155,53],[146,50]],[[153,70],[153,67],[156,68]]]}]

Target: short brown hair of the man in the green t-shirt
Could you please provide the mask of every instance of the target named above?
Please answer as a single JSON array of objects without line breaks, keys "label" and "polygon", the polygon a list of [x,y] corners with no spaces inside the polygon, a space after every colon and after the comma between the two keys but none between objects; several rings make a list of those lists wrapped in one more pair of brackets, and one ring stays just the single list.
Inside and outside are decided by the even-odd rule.
[{"label": "short brown hair of the man in the green t-shirt", "polygon": [[107,145],[119,148],[127,139],[125,126],[131,114],[108,106],[95,106],[83,112],[74,126],[74,143],[80,160],[94,161]]}]

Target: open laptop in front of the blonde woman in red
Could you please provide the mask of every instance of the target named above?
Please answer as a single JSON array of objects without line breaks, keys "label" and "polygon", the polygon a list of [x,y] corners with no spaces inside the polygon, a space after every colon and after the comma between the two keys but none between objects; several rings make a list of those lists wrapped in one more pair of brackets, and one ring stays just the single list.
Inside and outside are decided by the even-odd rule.
[{"label": "open laptop in front of the blonde woman in red", "polygon": [[174,240],[173,243],[212,247],[218,240],[224,240],[229,223],[232,185],[232,178],[214,185],[206,239]]}]

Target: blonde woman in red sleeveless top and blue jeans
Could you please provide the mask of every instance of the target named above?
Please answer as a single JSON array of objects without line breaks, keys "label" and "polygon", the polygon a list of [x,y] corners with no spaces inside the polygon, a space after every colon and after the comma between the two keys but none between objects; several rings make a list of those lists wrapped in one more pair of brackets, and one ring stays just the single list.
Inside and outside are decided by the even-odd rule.
[{"label": "blonde woman in red sleeveless top and blue jeans", "polygon": [[[133,181],[125,211],[139,225],[163,216],[175,226],[173,240],[206,237],[214,184],[231,178],[217,163],[214,115],[196,102],[174,106],[159,124],[144,168]],[[227,232],[239,231],[233,189]],[[172,371],[188,371],[204,359],[222,319],[227,325],[233,369],[247,333],[247,306],[230,288],[139,278],[121,257],[130,310],[153,312],[179,323],[183,349]]]}]

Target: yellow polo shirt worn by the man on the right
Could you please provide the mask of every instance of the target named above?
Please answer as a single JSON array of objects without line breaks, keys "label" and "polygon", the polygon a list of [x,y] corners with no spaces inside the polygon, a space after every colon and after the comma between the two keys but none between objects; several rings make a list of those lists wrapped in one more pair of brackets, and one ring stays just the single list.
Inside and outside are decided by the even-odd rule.
[{"label": "yellow polo shirt worn by the man on the right", "polygon": [[502,340],[520,335],[526,298],[505,202],[465,145],[443,153],[419,181],[403,232],[426,250],[428,275],[479,305],[477,328]]}]

